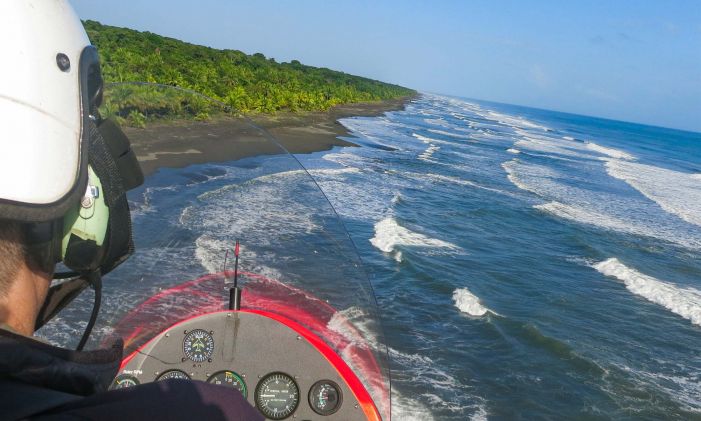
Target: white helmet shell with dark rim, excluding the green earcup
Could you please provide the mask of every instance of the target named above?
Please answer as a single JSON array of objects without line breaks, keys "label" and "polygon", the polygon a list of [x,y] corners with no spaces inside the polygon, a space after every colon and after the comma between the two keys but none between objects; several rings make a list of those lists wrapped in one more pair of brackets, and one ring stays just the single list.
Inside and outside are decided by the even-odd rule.
[{"label": "white helmet shell with dark rim, excluding the green earcup", "polygon": [[0,218],[60,218],[86,191],[97,53],[65,0],[0,1],[0,40]]}]

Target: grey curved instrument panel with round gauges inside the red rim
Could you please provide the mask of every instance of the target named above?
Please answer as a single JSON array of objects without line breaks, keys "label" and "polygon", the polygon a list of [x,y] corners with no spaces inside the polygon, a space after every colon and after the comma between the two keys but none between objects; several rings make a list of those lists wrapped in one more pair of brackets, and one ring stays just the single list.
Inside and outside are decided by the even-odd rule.
[{"label": "grey curved instrument panel with round gauges inside the red rim", "polygon": [[171,327],[134,354],[112,388],[168,379],[230,387],[271,420],[365,418],[314,345],[257,313],[217,312]]}]

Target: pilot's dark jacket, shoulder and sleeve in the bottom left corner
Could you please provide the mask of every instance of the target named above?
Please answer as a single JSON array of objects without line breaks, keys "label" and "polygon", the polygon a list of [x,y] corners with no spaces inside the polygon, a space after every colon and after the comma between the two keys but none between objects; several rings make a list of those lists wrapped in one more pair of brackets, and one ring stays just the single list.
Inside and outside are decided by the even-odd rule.
[{"label": "pilot's dark jacket, shoulder and sleeve in the bottom left corner", "polygon": [[107,391],[121,359],[121,341],[78,352],[0,329],[0,419],[263,419],[240,393],[204,382]]}]

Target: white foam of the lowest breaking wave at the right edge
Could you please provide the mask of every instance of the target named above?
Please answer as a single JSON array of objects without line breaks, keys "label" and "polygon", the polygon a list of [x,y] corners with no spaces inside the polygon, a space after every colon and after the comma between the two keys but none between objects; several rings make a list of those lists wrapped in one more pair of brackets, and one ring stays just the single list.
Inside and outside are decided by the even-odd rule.
[{"label": "white foam of the lowest breaking wave at the right edge", "polygon": [[615,257],[597,263],[594,269],[622,281],[628,290],[659,304],[691,323],[701,326],[701,291],[680,287],[645,275],[621,263]]}]

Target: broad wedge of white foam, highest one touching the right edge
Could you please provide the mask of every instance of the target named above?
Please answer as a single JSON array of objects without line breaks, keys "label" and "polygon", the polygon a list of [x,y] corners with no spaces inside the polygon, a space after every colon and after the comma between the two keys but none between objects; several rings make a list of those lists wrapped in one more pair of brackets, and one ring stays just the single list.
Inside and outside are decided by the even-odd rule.
[{"label": "broad wedge of white foam, highest one touching the right edge", "polygon": [[701,225],[698,174],[618,160],[609,160],[606,171],[612,177],[630,184],[665,211],[691,224]]}]

